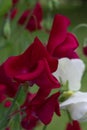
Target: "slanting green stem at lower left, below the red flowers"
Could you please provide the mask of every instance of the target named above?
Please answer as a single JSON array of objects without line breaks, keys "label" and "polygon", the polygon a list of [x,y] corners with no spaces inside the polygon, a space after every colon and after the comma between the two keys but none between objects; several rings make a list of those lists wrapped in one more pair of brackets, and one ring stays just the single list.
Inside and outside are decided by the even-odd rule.
[{"label": "slanting green stem at lower left, below the red flowers", "polygon": [[18,92],[17,92],[17,94],[16,94],[16,96],[15,96],[13,102],[12,102],[11,107],[9,108],[9,110],[8,110],[7,113],[5,114],[4,118],[3,118],[2,121],[0,122],[0,129],[3,128],[3,127],[6,127],[6,125],[8,124],[8,122],[9,122],[9,114],[11,113],[11,111],[12,111],[14,105],[15,105],[15,102],[16,102],[16,100],[17,100],[17,98],[18,98],[18,95],[19,95],[19,93],[20,93],[20,91],[21,91],[21,88],[22,88],[22,87],[20,86],[20,87],[19,87],[19,90],[18,90]]}]

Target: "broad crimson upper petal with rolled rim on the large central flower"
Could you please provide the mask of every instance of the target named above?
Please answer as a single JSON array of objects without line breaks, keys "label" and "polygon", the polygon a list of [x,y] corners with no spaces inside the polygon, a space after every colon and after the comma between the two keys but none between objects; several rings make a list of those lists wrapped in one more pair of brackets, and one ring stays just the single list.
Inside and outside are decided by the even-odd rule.
[{"label": "broad crimson upper petal with rolled rim on the large central flower", "polygon": [[23,81],[34,80],[44,69],[44,58],[50,67],[48,72],[51,73],[57,68],[58,61],[52,58],[39,39],[35,38],[33,44],[23,54],[8,58],[4,68],[10,77]]}]

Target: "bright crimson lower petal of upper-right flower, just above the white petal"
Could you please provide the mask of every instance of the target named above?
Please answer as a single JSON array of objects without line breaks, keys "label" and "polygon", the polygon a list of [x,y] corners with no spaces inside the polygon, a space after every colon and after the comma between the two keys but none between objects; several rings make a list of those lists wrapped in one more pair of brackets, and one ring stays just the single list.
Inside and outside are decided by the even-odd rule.
[{"label": "bright crimson lower petal of upper-right flower, just above the white petal", "polygon": [[58,58],[73,58],[75,57],[74,50],[78,47],[78,45],[79,44],[75,36],[71,33],[67,33],[66,39],[56,47],[53,55]]}]

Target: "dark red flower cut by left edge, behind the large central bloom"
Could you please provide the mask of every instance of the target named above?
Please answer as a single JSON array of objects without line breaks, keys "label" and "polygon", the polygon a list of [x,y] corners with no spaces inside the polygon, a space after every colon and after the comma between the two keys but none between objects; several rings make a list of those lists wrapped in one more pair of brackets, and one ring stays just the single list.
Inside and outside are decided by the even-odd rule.
[{"label": "dark red flower cut by left edge, behind the large central bloom", "polygon": [[2,101],[8,97],[14,97],[18,89],[18,83],[13,82],[12,79],[7,76],[3,65],[0,66],[0,100]]}]

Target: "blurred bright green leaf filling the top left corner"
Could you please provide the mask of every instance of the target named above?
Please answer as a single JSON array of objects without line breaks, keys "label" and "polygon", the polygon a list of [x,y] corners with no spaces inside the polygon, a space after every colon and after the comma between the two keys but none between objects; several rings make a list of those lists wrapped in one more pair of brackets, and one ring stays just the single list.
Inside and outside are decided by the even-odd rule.
[{"label": "blurred bright green leaf filling the top left corner", "polygon": [[11,6],[12,0],[0,0],[0,17],[7,13]]}]

